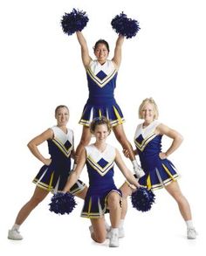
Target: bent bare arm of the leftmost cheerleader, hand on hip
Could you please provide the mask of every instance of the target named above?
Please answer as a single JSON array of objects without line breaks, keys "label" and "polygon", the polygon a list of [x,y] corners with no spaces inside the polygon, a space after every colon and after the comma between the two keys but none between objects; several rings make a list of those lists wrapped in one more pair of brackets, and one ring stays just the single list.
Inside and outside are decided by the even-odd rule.
[{"label": "bent bare arm of the leftmost cheerleader, hand on hip", "polygon": [[33,138],[31,142],[27,144],[28,148],[31,150],[31,153],[34,156],[36,156],[39,161],[41,161],[42,163],[45,163],[46,165],[49,165],[52,162],[52,160],[42,156],[42,154],[38,150],[38,145],[52,138],[53,138],[53,131],[51,128],[49,128],[41,135],[38,135],[37,137]]}]

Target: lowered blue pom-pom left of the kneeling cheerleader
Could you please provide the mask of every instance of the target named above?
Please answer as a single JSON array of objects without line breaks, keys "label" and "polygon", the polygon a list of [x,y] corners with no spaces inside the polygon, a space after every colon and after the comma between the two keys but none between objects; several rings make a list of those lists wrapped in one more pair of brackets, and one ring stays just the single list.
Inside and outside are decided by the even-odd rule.
[{"label": "lowered blue pom-pom left of the kneeling cheerleader", "polygon": [[51,198],[50,211],[57,214],[70,214],[75,208],[76,202],[70,193],[57,193]]}]

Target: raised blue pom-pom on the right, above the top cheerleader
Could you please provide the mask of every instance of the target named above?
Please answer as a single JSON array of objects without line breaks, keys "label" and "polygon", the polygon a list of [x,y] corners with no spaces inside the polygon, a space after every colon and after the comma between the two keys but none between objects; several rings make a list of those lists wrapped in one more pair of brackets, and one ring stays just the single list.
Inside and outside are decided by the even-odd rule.
[{"label": "raised blue pom-pom on the right, above the top cheerleader", "polygon": [[114,31],[126,38],[135,37],[136,33],[141,29],[138,21],[128,18],[123,11],[120,13],[120,15],[113,18],[111,24]]}]

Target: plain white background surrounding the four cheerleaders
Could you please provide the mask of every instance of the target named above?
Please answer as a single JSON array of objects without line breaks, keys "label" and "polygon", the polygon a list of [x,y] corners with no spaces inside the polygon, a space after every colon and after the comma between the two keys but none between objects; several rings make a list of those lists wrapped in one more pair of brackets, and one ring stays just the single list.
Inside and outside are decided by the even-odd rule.
[{"label": "plain white background surrounding the four cheerleaders", "polygon": [[[201,0],[61,1],[4,0],[0,6],[1,32],[1,218],[0,253],[7,255],[57,255],[58,253],[124,255],[203,255],[205,241],[205,8]],[[165,190],[156,192],[152,211],[141,213],[129,204],[126,237],[119,248],[97,245],[90,239],[89,221],[80,218],[82,201],[71,216],[48,211],[50,197],[22,225],[22,241],[7,239],[20,207],[34,190],[32,178],[41,163],[26,144],[55,124],[54,108],[71,110],[69,127],[75,145],[78,124],[88,96],[86,73],[76,37],[60,27],[64,12],[86,10],[90,21],[84,30],[93,56],[93,45],[105,38],[113,47],[117,35],[112,18],[123,10],[140,21],[141,31],[125,40],[115,91],[126,118],[128,139],[133,142],[138,107],[152,96],[160,108],[160,121],[184,136],[180,149],[170,157],[182,175],[182,191],[189,199],[198,239],[185,238],[186,227],[175,201]],[[111,135],[115,147],[120,144]],[[171,141],[163,140],[163,149]],[[47,154],[46,143],[40,147]],[[125,160],[131,168],[131,163]],[[82,180],[87,183],[86,170]],[[116,184],[124,177],[116,168]],[[201,253],[202,252],[202,253]]]}]

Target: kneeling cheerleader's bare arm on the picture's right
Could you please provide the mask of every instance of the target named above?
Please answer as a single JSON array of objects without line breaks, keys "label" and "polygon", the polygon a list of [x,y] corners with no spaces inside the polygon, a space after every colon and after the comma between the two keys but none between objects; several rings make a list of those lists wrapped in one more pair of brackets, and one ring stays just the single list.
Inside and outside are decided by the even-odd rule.
[{"label": "kneeling cheerleader's bare arm on the picture's right", "polygon": [[132,171],[127,169],[127,166],[123,162],[123,160],[120,156],[120,152],[117,149],[116,149],[115,163],[117,164],[120,171],[126,177],[126,179],[129,183],[133,184],[136,188],[140,187],[140,184],[136,181]]}]

